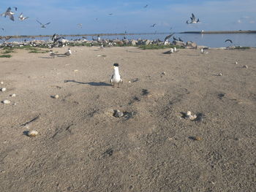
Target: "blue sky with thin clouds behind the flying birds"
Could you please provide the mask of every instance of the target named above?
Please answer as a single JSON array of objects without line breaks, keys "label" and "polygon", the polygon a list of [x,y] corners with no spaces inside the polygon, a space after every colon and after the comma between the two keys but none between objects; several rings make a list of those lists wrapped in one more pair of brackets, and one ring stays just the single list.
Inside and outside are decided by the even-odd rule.
[{"label": "blue sky with thin clouds behind the flying birds", "polygon": [[[147,6],[146,6],[147,5]],[[255,0],[10,0],[15,21],[0,16],[0,36],[256,30]],[[18,7],[17,11],[15,8]],[[18,20],[18,16],[29,17]],[[187,25],[194,13],[200,23]],[[41,28],[41,23],[48,23]],[[151,27],[154,23],[156,25]],[[78,25],[81,24],[81,25]],[[1,28],[4,28],[2,30]]]}]

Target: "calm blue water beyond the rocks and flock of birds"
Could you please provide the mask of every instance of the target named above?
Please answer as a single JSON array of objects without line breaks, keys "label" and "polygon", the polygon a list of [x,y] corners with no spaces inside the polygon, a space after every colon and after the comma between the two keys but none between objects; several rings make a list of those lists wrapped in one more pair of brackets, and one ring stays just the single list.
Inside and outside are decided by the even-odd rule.
[{"label": "calm blue water beyond the rocks and flock of birds", "polygon": [[[127,39],[165,39],[167,34],[146,34],[146,35],[126,35]],[[122,36],[102,36],[102,39],[123,39]],[[180,37],[184,42],[192,41],[196,42],[197,45],[205,45],[208,47],[227,47],[230,42],[225,42],[225,39],[231,39],[233,45],[244,46],[244,47],[256,47],[256,34],[174,34],[174,37]],[[82,37],[65,37],[66,39],[81,39]],[[94,37],[97,39],[97,37]],[[48,40],[49,37],[37,37],[39,40]],[[92,37],[88,36],[87,39],[91,40]],[[12,41],[22,41],[23,39],[10,39]],[[33,39],[27,39],[27,41]],[[170,39],[173,41],[173,38]]]}]

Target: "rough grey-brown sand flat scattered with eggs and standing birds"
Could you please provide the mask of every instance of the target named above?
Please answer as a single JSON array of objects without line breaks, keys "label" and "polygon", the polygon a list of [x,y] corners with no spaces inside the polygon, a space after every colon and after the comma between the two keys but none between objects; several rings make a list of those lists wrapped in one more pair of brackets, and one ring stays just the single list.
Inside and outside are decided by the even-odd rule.
[{"label": "rough grey-brown sand flat scattered with eggs and standing birds", "polygon": [[71,49],[0,58],[0,191],[256,190],[256,49]]}]

